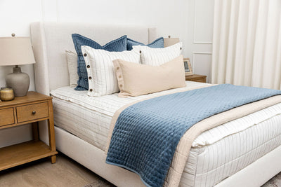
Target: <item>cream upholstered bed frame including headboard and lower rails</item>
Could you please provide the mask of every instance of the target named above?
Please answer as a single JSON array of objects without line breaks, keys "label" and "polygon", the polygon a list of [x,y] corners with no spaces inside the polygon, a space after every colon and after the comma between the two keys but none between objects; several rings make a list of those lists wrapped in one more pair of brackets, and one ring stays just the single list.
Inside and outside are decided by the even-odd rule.
[{"label": "cream upholstered bed frame including headboard and lower rails", "polygon": [[[31,38],[36,64],[35,85],[37,92],[49,95],[50,90],[69,85],[65,50],[74,51],[72,33],[79,33],[100,44],[117,39],[124,34],[150,43],[157,39],[155,28],[91,25],[86,23],[34,22]],[[44,122],[43,122],[44,123]],[[48,144],[46,124],[39,125],[40,139]],[[79,137],[55,127],[58,151],[102,176],[116,186],[145,186],[140,177],[121,167],[107,165],[104,151]],[[281,171],[281,146],[251,163],[216,186],[261,186]]]}]

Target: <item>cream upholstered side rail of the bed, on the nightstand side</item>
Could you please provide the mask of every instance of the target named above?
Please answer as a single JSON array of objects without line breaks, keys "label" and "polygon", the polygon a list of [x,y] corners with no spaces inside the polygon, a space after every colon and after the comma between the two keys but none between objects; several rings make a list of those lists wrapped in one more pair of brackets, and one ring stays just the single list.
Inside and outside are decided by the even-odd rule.
[{"label": "cream upholstered side rail of the bed, on the nightstand side", "polygon": [[116,186],[145,186],[137,174],[122,167],[107,165],[103,150],[60,127],[55,127],[55,141],[59,151]]}]

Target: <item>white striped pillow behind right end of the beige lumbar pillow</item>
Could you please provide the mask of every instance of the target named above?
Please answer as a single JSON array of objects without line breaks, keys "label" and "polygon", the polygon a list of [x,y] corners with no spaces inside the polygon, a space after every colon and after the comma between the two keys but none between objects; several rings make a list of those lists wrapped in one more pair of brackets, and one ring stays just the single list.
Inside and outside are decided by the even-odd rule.
[{"label": "white striped pillow behind right end of the beige lumbar pillow", "polygon": [[179,42],[166,48],[150,48],[148,46],[133,46],[141,53],[141,64],[159,66],[181,55],[183,43]]}]

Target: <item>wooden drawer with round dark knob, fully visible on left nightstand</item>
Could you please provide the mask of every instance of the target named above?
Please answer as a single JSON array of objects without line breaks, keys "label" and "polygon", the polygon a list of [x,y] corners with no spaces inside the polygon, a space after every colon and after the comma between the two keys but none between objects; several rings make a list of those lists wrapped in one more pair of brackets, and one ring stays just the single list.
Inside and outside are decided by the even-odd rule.
[{"label": "wooden drawer with round dark knob, fully visible on left nightstand", "polygon": [[48,102],[18,106],[16,109],[18,123],[48,117]]}]

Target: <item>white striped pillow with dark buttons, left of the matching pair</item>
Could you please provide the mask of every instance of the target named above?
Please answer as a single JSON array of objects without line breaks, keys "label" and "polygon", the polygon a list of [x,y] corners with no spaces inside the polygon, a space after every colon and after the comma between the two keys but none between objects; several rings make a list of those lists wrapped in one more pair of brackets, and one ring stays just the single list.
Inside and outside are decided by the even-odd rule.
[{"label": "white striped pillow with dark buttons, left of the matching pair", "polygon": [[110,95],[119,92],[112,60],[122,59],[136,64],[140,63],[140,53],[136,50],[110,52],[81,46],[89,82],[89,96]]}]

